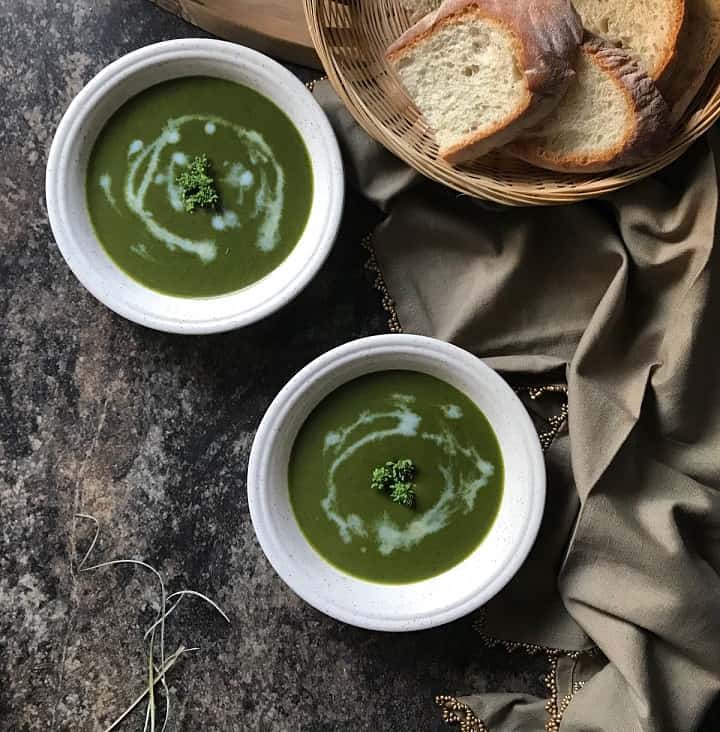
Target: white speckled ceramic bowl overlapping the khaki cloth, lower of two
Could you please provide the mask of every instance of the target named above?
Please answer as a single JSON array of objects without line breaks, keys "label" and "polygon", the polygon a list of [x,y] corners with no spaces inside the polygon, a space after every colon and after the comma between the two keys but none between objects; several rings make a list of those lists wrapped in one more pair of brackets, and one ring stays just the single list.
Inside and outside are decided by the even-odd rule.
[{"label": "white speckled ceramic bowl overlapping the khaki cloth, lower of two", "polygon": [[[408,369],[459,389],[486,415],[505,465],[498,516],[478,548],[460,564],[421,582],[383,585],[328,564],[301,533],[288,494],[288,461],[313,408],[363,374]],[[318,610],[373,630],[420,630],[475,610],[513,577],[532,547],[545,506],[540,443],[520,400],[498,374],[467,351],[413,335],[382,335],[320,356],[288,382],[260,424],[248,468],[250,515],[260,545],[280,577]]]}]

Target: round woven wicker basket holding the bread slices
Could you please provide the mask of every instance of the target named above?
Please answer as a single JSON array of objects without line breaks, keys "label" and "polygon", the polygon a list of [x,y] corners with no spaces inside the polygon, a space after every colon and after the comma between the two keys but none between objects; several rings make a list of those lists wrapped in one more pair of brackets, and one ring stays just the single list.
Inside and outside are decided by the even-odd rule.
[{"label": "round woven wicker basket holding the bread slices", "polygon": [[572,203],[622,188],[676,160],[720,117],[720,64],[708,75],[663,152],[642,165],[592,175],[554,173],[491,153],[453,168],[389,73],[385,49],[410,26],[399,0],[303,0],[328,78],[357,122],[416,170],[461,193],[527,206]]}]

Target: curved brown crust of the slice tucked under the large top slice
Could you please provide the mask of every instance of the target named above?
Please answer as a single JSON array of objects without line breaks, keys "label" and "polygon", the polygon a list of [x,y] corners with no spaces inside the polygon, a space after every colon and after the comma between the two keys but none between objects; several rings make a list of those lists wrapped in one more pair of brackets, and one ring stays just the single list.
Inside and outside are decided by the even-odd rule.
[{"label": "curved brown crust of the slice tucked under the large top slice", "polygon": [[651,157],[667,140],[670,131],[670,110],[657,86],[633,57],[603,39],[588,37],[582,53],[610,77],[631,110],[632,117],[617,144],[606,148],[602,155],[561,155],[544,150],[528,137],[508,145],[508,152],[540,168],[565,173],[599,173]]}]

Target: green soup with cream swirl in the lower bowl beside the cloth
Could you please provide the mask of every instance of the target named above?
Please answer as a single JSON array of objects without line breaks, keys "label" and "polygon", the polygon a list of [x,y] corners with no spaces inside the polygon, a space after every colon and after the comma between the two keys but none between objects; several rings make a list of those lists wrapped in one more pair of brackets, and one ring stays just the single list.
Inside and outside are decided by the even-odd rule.
[{"label": "green soup with cream swirl in the lower bowl beside the cloth", "polygon": [[[373,468],[408,458],[416,503],[371,487]],[[495,434],[465,395],[414,371],[339,387],[310,414],[288,469],[290,501],[310,544],[348,574],[416,582],[467,557],[495,520],[503,463]]]}]

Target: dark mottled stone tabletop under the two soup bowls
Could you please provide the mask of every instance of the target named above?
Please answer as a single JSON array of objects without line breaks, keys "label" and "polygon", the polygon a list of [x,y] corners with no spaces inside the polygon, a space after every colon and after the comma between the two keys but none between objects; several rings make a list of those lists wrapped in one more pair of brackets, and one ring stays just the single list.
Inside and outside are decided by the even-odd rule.
[{"label": "dark mottled stone tabletop under the two soup bowls", "polygon": [[[541,691],[544,663],[484,650],[469,622],[383,635],[295,597],[255,541],[245,494],[254,430],[310,359],[382,332],[363,269],[370,212],[350,201],[322,273],[243,331],[167,336],[105,309],[57,251],[44,165],[71,98],[139,46],[201,35],[146,0],[0,0],[0,729],[101,730],[143,687],[152,576],[78,575],[143,558],[188,601],[168,645],[201,646],[171,674],[173,730],[439,730],[437,693]],[[141,729],[135,716],[124,729]]]}]

